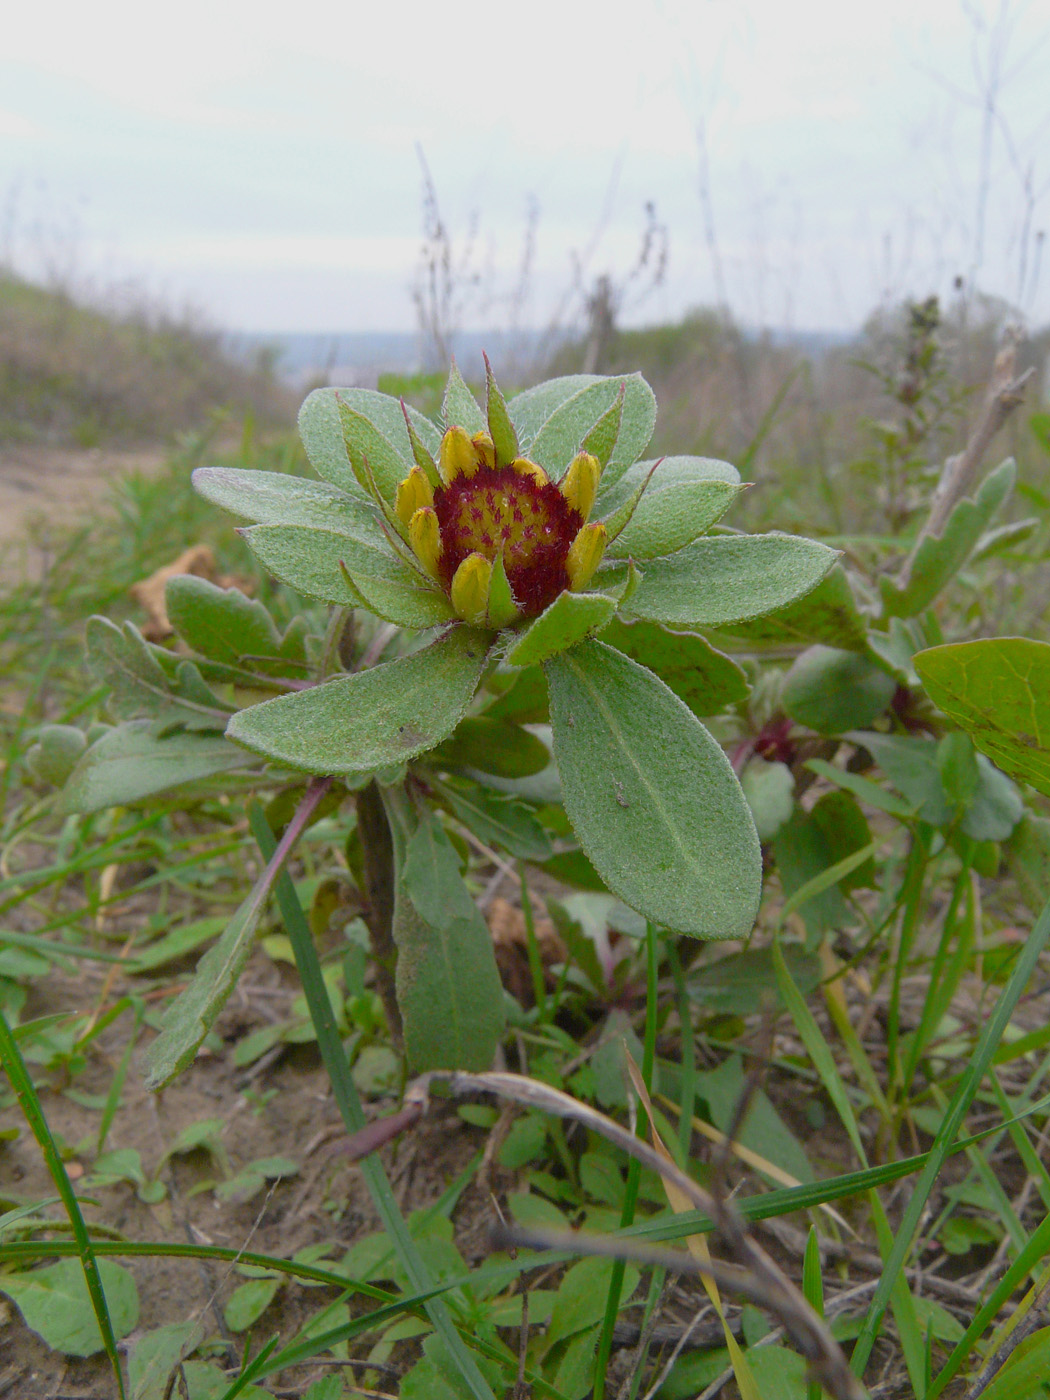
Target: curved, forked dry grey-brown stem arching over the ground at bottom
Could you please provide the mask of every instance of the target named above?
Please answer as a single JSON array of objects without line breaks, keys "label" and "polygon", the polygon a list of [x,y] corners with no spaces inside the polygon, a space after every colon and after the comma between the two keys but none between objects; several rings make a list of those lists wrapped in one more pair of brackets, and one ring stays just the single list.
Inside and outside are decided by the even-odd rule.
[{"label": "curved, forked dry grey-brown stem arching over the ground at bottom", "polygon": [[[770,1312],[784,1327],[809,1369],[834,1400],[865,1400],[865,1390],[846,1364],[839,1343],[825,1322],[818,1317],[809,1303],[770,1256],[760,1249],[746,1232],[743,1221],[732,1205],[714,1197],[699,1186],[692,1176],[682,1172],[673,1162],[665,1161],[647,1142],[636,1138],[627,1128],[598,1113],[587,1103],[552,1089],[547,1084],[529,1079],[519,1074],[461,1074],[438,1070],[414,1079],[405,1095],[405,1110],[426,1109],[430,1099],[430,1085],[442,1084],[452,1095],[496,1093],[500,1098],[524,1103],[526,1107],[568,1119],[622,1148],[630,1156],[651,1168],[665,1180],[673,1183],[692,1205],[708,1215],[714,1225],[714,1238],[729,1253],[734,1263],[711,1260],[699,1264],[692,1256],[679,1250],[636,1245],[631,1240],[612,1236],[591,1236],[578,1233],[564,1236],[540,1236],[532,1232],[511,1232],[503,1236],[498,1247],[522,1246],[566,1250],[570,1254],[598,1254],[627,1259],[652,1267],[673,1270],[679,1274],[707,1274],[720,1287],[732,1289]],[[353,1151],[353,1142],[351,1151]]]}]

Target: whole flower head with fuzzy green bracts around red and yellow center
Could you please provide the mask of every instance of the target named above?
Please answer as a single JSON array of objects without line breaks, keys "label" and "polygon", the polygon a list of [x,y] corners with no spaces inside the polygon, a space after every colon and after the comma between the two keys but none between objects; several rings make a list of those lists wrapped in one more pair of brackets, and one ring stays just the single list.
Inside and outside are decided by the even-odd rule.
[{"label": "whole flower head with fuzzy green bracts around red and yellow center", "polygon": [[[493,690],[505,706],[508,680],[542,664],[566,808],[605,883],[679,932],[745,935],[759,843],[690,708],[704,673],[727,697],[743,678],[696,631],[784,608],[834,553],[788,535],[703,538],[739,476],[707,458],[640,461],[654,423],[638,375],[504,400],[490,374],[483,412],[454,368],[441,426],[365,389],[312,393],[300,430],[323,484],[199,470],[197,490],[253,522],[244,538],[283,582],[423,633],[410,654],[241,710],[227,738],[356,784],[405,760],[441,770],[461,721]],[[563,546],[542,554],[546,539]],[[612,645],[596,641],[617,613]]]}]

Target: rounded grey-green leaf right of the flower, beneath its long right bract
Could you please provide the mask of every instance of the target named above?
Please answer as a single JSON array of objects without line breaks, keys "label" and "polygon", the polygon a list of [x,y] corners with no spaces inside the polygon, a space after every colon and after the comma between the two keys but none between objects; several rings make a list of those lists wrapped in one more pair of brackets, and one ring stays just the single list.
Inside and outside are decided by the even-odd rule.
[{"label": "rounded grey-green leaf right of the flower, beneath its long right bract", "polygon": [[889,706],[896,680],[855,651],[811,647],[784,678],[781,704],[818,734],[867,729]]}]

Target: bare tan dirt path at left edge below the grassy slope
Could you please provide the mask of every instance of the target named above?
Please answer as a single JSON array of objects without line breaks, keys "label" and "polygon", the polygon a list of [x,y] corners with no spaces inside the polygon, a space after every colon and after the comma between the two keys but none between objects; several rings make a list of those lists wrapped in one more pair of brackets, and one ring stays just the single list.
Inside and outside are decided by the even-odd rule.
[{"label": "bare tan dirt path at left edge below the grassy slope", "polygon": [[31,564],[31,526],[83,522],[98,507],[109,480],[122,472],[155,472],[165,449],[53,448],[0,444],[0,578]]}]

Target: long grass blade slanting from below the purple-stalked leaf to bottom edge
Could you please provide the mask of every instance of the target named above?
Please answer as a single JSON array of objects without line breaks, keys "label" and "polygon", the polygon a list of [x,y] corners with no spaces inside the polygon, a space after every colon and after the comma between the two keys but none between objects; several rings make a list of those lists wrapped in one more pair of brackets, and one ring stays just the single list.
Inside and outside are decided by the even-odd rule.
[{"label": "long grass blade slanting from below the purple-stalked leaf to bottom edge", "polygon": [[[252,834],[259,843],[259,850],[263,853],[263,858],[269,861],[277,848],[277,843],[258,802],[249,804],[248,819]],[[347,1133],[360,1133],[365,1126],[364,1110],[361,1109],[357,1086],[350,1074],[346,1051],[343,1050],[335,1016],[332,1015],[332,1002],[329,1001],[328,988],[321,974],[321,963],[314,948],[314,938],[287,869],[281,871],[277,876],[274,893],[293,952],[295,953],[295,965],[302,980],[302,991],[307,998],[311,1021],[314,1022],[314,1030],[316,1032],[318,1049],[332,1082],[332,1093],[343,1116]],[[393,1197],[382,1162],[372,1152],[361,1161],[360,1168],[384,1228],[395,1243],[398,1257],[409,1277],[409,1282],[416,1292],[430,1294],[434,1289],[434,1281],[416,1249],[416,1242],[409,1233],[407,1224]],[[477,1364],[456,1331],[445,1303],[438,1298],[433,1298],[427,1303],[427,1316],[434,1324],[434,1330],[455,1357],[461,1375],[475,1400],[494,1400],[487,1380],[477,1369]]]}]

